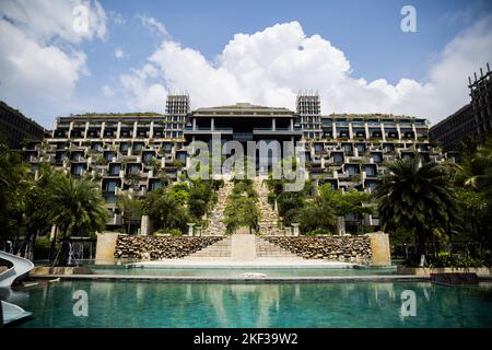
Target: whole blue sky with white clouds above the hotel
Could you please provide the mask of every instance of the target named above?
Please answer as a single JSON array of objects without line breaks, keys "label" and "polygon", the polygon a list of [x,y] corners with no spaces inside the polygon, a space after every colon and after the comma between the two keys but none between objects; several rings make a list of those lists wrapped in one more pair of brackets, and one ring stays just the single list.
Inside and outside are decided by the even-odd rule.
[{"label": "whole blue sky with white clouds above the hotel", "polygon": [[[97,18],[86,35],[70,33],[77,4]],[[417,33],[400,30],[405,4],[417,10]],[[300,89],[314,89],[324,113],[437,121],[468,102],[467,77],[492,57],[485,0],[5,0],[0,14],[9,37],[0,49],[11,51],[0,59],[0,98],[48,128],[70,113],[163,112],[169,89],[189,91],[194,107],[231,100],[293,107]],[[297,45],[306,45],[303,55]]]}]

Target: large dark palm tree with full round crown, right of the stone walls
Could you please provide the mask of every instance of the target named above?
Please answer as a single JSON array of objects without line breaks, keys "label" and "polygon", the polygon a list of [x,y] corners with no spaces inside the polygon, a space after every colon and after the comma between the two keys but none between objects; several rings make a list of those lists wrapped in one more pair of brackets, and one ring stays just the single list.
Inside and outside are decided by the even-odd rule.
[{"label": "large dark palm tree with full round crown, right of the stone walls", "polygon": [[411,232],[417,240],[417,254],[425,253],[425,242],[434,230],[443,232],[455,219],[456,199],[448,172],[442,165],[420,164],[415,159],[387,164],[375,197],[382,228]]}]

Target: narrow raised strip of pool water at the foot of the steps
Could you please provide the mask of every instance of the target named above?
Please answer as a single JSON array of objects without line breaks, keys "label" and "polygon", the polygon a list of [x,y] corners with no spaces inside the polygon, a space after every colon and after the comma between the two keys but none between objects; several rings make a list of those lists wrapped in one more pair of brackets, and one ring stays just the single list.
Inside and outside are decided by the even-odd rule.
[{"label": "narrow raised strip of pool water at the foot of the steps", "polygon": [[320,277],[320,276],[367,276],[395,275],[396,267],[390,268],[139,268],[139,267],[97,267],[90,269],[97,275],[131,276],[187,276],[187,277],[243,277],[246,272],[265,273],[267,277]]}]

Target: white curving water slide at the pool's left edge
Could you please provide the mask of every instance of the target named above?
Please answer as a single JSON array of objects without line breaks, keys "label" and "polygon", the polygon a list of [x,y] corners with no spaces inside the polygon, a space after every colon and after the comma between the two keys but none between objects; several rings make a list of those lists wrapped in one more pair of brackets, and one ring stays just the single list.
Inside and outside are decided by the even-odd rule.
[{"label": "white curving water slide at the pool's left edge", "polygon": [[[10,289],[17,278],[27,275],[34,268],[34,264],[31,260],[1,250],[0,259],[12,264],[12,267],[0,273],[0,289]],[[31,315],[22,307],[4,301],[0,302],[0,322],[3,325]]]}]

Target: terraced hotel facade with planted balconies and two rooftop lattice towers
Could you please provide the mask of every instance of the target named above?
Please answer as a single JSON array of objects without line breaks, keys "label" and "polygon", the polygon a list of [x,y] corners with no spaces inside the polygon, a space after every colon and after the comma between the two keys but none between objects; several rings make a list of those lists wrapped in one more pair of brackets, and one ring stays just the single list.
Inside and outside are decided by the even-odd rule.
[{"label": "terraced hotel facade with planted balconies and two rooftop lattice towers", "polygon": [[[24,148],[36,170],[47,161],[72,176],[89,175],[101,184],[110,220],[124,224],[118,196],[145,197],[187,173],[192,141],[304,141],[307,176],[332,188],[372,191],[385,174],[385,162],[414,158],[441,162],[445,155],[429,142],[425,119],[383,114],[321,115],[317,94],[300,94],[296,110],[248,103],[190,109],[186,94],[169,95],[166,113],[85,114],[59,117],[49,138]],[[377,215],[347,215],[377,229]],[[142,222],[143,226],[147,223]]]}]

